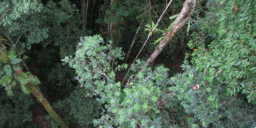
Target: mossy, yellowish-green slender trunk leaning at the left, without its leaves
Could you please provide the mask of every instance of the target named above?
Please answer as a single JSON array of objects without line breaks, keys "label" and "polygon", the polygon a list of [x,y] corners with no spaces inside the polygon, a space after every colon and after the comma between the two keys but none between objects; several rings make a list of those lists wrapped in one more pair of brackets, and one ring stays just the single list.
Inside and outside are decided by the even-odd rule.
[{"label": "mossy, yellowish-green slender trunk leaning at the left, without its leaves", "polygon": [[[2,31],[3,32],[3,31]],[[11,41],[12,43],[12,47],[14,48],[14,50],[16,51],[16,53],[18,54],[18,57],[22,60],[21,56],[20,56],[20,53],[19,51],[17,50],[16,48],[16,44],[17,42],[19,41],[19,39],[17,40],[17,42],[14,44],[14,42],[12,41],[11,37],[9,35],[7,35],[6,33],[4,33],[4,35]],[[5,54],[5,53],[4,53]],[[2,56],[2,55],[1,55]],[[3,55],[3,56],[6,56],[7,58],[7,55]],[[5,59],[4,59],[5,60]],[[24,62],[24,60],[22,60],[22,64],[23,66],[26,68],[26,71],[29,72],[29,69],[26,65],[26,63]],[[31,92],[33,93],[33,95],[36,96],[37,99],[43,99],[42,100],[42,104],[44,106],[44,108],[46,109],[46,111],[50,114],[50,116],[53,118],[53,120],[60,124],[60,127],[61,128],[68,128],[68,125],[60,118],[60,116],[58,116],[58,114],[52,109],[52,106],[50,105],[50,103],[45,99],[44,95],[42,94],[42,92],[40,91],[39,87],[38,86],[35,86],[35,85],[31,85],[30,84],[30,88],[31,88]]]}]

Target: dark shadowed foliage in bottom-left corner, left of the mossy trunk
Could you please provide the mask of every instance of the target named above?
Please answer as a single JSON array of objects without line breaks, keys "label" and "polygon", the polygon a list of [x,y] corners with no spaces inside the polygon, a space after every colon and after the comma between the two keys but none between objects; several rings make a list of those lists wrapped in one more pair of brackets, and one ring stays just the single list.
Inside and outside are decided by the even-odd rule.
[{"label": "dark shadowed foliage in bottom-left corner, left of the mossy trunk", "polygon": [[28,95],[20,91],[19,86],[12,89],[15,94],[12,97],[6,95],[5,88],[0,87],[0,127],[22,127],[32,120],[32,113],[29,108],[33,102]]}]

